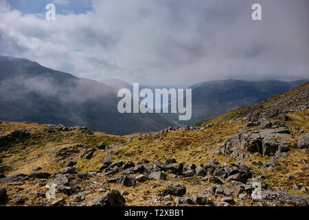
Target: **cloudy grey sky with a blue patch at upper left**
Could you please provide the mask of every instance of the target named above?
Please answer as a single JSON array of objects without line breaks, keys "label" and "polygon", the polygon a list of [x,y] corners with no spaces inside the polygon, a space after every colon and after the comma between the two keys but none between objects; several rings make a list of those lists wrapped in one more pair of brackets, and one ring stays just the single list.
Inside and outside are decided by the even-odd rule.
[{"label": "cloudy grey sky with a blue patch at upper left", "polygon": [[309,78],[308,21],[308,0],[0,0],[0,55],[150,86],[289,81]]}]

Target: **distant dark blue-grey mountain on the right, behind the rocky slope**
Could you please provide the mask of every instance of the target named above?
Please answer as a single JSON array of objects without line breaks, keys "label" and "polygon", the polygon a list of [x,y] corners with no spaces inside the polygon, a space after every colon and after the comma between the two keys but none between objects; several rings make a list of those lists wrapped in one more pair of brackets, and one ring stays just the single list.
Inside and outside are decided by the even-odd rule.
[{"label": "distant dark blue-grey mountain on the right, behind the rocky slope", "polygon": [[192,120],[196,124],[205,118],[227,113],[240,107],[255,104],[282,94],[307,80],[284,82],[264,80],[247,82],[243,80],[214,80],[192,85]]}]

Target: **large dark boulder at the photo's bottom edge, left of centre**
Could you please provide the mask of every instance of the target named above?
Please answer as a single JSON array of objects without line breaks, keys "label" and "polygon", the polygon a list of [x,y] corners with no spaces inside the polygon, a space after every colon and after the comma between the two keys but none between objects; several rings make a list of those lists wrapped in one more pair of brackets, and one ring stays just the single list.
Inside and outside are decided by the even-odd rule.
[{"label": "large dark boulder at the photo's bottom edge, left of centre", "polygon": [[126,200],[120,195],[119,191],[111,190],[95,197],[87,203],[87,206],[124,206],[125,203]]}]

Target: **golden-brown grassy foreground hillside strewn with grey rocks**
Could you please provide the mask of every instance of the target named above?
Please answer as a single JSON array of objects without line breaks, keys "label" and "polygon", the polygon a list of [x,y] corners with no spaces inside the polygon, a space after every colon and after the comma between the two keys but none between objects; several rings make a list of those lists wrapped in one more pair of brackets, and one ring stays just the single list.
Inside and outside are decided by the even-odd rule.
[{"label": "golden-brown grassy foreground hillside strewn with grey rocks", "polygon": [[309,83],[196,126],[0,123],[3,206],[308,206]]}]

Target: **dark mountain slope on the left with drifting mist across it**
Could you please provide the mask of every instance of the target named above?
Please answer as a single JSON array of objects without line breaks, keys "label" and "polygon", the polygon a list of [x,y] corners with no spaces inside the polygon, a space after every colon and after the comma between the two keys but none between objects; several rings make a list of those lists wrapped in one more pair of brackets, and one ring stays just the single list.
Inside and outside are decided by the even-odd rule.
[{"label": "dark mountain slope on the left with drifting mist across it", "polygon": [[21,58],[0,56],[0,120],[87,126],[126,134],[174,123],[159,114],[117,111],[117,89]]}]

